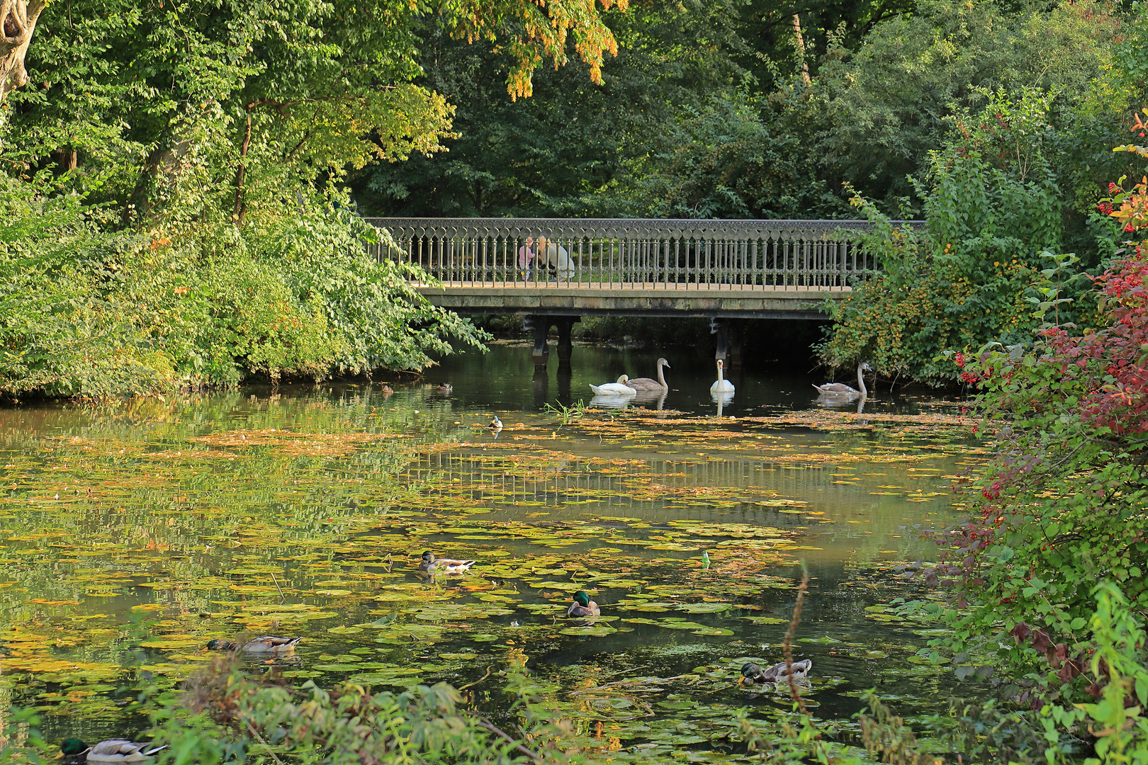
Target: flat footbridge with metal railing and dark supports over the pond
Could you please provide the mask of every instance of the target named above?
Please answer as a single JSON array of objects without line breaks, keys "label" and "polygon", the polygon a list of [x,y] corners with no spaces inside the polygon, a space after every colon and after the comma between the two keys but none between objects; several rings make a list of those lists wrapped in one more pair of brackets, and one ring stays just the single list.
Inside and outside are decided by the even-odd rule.
[{"label": "flat footbridge with metal railing and dark supports over the pond", "polygon": [[543,364],[551,325],[561,356],[569,325],[603,314],[709,318],[724,358],[730,320],[736,334],[742,319],[823,319],[879,268],[864,220],[366,220],[386,232],[377,257],[439,280],[417,286],[435,305],[526,317]]}]

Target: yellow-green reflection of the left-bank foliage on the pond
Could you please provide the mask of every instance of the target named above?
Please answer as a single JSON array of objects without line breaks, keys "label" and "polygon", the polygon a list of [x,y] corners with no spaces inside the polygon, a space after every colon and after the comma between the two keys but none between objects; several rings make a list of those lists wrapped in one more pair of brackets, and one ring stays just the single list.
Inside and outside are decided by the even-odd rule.
[{"label": "yellow-green reflection of the left-bank foliage on the pond", "polygon": [[[0,609],[20,627],[5,635],[6,670],[107,680],[141,656],[170,656],[139,640],[132,648],[124,639],[132,618],[157,620],[162,633],[195,632],[200,614],[227,610],[220,603],[276,594],[272,572],[294,595],[331,578],[329,568],[312,572],[308,561],[329,561],[349,533],[378,524],[416,439],[379,438],[329,459],[193,438],[274,428],[338,439],[406,429],[409,409],[377,403],[369,395],[284,403],[227,395],[153,400],[110,415],[0,412],[9,479],[0,504],[8,532]],[[440,440],[429,424],[421,440]],[[226,573],[249,561],[266,570]]]}]

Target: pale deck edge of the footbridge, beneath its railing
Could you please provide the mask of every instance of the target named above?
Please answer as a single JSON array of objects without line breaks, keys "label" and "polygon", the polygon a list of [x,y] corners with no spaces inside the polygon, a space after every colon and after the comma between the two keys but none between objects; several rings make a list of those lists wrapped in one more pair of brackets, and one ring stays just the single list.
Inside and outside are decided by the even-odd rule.
[{"label": "pale deck edge of the footbridge, beneath its railing", "polygon": [[416,284],[437,306],[458,313],[537,315],[705,317],[824,319],[827,298],[848,287],[775,287],[666,282],[443,282]]}]

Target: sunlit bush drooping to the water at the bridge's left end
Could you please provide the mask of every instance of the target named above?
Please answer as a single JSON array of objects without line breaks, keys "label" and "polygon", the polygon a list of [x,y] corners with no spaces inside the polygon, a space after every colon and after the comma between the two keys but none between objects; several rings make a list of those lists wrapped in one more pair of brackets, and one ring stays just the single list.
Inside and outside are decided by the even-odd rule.
[{"label": "sunlit bush drooping to the water at the bridge's left end", "polygon": [[420,297],[413,270],[375,263],[373,229],[346,212],[115,232],[44,179],[0,184],[0,396],[421,369],[483,337]]}]

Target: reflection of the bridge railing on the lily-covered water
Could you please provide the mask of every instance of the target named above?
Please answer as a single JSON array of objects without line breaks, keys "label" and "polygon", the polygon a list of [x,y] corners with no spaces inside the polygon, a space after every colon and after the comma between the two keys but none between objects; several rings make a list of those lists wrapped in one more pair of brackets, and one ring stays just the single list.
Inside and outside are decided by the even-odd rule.
[{"label": "reflection of the bridge railing on the lily-covered water", "polygon": [[[956,469],[954,455],[937,451],[928,461],[915,462],[928,466],[916,475],[894,469],[901,474],[897,479],[908,479],[908,484],[890,492],[884,485],[890,481],[887,465],[871,476],[854,474],[850,481],[840,481],[839,467],[822,460],[804,463],[800,455],[783,460],[625,456],[626,466],[610,465],[608,471],[600,461],[588,458],[523,474],[522,465],[506,455],[460,448],[422,456],[400,473],[400,481],[449,486],[451,494],[489,510],[481,517],[490,522],[521,518],[523,508],[544,510],[553,521],[584,521],[587,515],[597,515],[639,517],[654,524],[703,521],[777,529],[805,529],[825,521],[845,524],[863,517],[863,528],[835,529],[841,541],[895,530],[906,520],[907,497],[939,494],[930,501],[938,513],[947,515],[953,501],[949,481],[937,474]],[[699,493],[698,487],[704,490]],[[890,517],[879,521],[882,515]],[[883,528],[875,529],[875,523]]]}]

